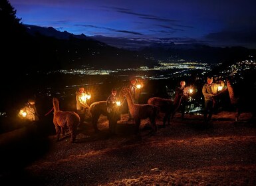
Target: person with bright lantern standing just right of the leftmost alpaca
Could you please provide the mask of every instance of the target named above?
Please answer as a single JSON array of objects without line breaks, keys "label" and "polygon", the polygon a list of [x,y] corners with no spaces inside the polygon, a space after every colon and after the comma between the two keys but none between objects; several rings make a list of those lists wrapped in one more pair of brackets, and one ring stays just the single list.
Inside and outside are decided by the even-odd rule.
[{"label": "person with bright lantern standing just right of the leftmost alpaca", "polygon": [[84,122],[85,113],[89,108],[86,99],[87,94],[84,92],[84,88],[79,88],[79,91],[76,91],[76,113],[80,117],[80,124]]}]

